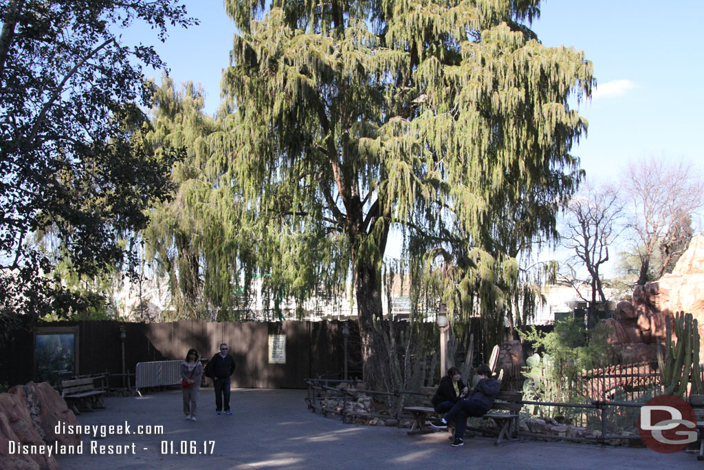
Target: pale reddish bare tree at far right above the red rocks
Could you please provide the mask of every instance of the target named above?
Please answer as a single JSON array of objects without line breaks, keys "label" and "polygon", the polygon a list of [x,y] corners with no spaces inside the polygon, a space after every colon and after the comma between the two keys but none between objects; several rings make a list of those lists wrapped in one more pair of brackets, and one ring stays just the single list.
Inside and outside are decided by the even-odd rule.
[{"label": "pale reddish bare tree at far right above the red rocks", "polygon": [[[704,206],[704,178],[689,161],[668,162],[651,155],[642,161],[631,162],[624,178],[633,209],[631,228],[634,231],[640,261],[639,285],[648,280],[653,254],[662,244],[681,245],[686,236],[682,221],[697,214]],[[685,241],[686,242],[686,241]],[[667,248],[670,250],[670,248]],[[672,253],[665,251],[665,255]],[[667,266],[668,259],[663,261]],[[662,275],[660,269],[660,276]]]}]

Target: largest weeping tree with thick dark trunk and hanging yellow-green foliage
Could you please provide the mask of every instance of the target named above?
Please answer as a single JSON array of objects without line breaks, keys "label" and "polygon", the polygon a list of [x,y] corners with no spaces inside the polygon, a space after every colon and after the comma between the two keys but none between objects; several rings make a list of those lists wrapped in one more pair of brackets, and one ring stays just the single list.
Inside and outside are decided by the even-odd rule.
[{"label": "largest weeping tree with thick dark trunk and hanging yellow-green foliage", "polygon": [[568,98],[589,97],[591,63],[538,42],[522,23],[536,0],[225,6],[240,34],[222,79],[235,111],[212,137],[221,181],[242,186],[243,230],[272,276],[300,287],[351,272],[365,379],[379,383],[390,230],[411,257],[432,249],[408,243],[420,237],[463,250],[474,276],[515,278],[496,271],[554,235],[579,182],[569,152],[586,121]]}]

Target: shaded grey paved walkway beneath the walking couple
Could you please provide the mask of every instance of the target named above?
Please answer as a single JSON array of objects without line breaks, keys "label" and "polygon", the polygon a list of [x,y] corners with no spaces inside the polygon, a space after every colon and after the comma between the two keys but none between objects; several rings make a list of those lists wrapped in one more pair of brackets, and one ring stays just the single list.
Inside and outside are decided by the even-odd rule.
[{"label": "shaded grey paved walkway beneath the walking couple", "polygon": [[[407,435],[404,429],[354,426],[341,423],[339,417],[325,418],[308,411],[305,397],[305,390],[236,389],[232,390],[232,416],[218,416],[213,389],[206,388],[200,392],[197,422],[183,418],[180,390],[109,397],[106,409],[81,414],[80,424],[124,426],[126,422],[132,434],[84,436],[83,454],[63,455],[58,462],[63,470],[704,469],[704,462],[691,452],[659,454],[649,449],[534,440],[497,447],[489,438],[451,447],[447,433]],[[161,435],[134,434],[137,426],[159,425]],[[191,441],[193,450],[203,454],[176,454],[182,443],[189,450]],[[101,445],[113,450],[127,447],[129,453],[91,454],[92,446]]]}]

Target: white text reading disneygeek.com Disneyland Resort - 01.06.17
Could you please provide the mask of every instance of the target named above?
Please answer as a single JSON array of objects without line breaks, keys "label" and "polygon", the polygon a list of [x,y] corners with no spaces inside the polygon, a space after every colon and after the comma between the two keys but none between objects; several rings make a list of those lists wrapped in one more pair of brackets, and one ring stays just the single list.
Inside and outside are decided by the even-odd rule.
[{"label": "white text reading disneygeek.com Disneyland Resort - 01.06.17", "polygon": [[[57,435],[84,435],[91,438],[89,442],[76,445],[65,445],[55,440],[54,443],[42,445],[25,444],[18,441],[8,441],[9,454],[45,454],[52,455],[134,455],[141,450],[149,451],[150,447],[138,443],[103,444],[96,438],[106,438],[109,435],[159,435],[164,433],[164,426],[139,425],[131,426],[127,421],[119,425],[71,425],[59,422],[54,428]],[[156,445],[151,444],[151,447]],[[203,455],[213,454],[214,440],[162,440],[154,449],[162,455]]]}]

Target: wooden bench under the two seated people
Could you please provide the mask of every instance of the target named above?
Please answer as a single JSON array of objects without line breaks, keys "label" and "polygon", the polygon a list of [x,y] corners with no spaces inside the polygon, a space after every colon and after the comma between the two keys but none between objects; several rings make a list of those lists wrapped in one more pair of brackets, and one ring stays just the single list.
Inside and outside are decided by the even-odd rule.
[{"label": "wooden bench under the two seated people", "polygon": [[[430,404],[430,400],[435,395],[436,387],[421,387],[419,392],[421,396]],[[472,392],[470,391],[470,395]],[[498,426],[498,436],[495,445],[509,443],[517,440],[518,433],[518,412],[523,405],[520,403],[523,398],[521,392],[499,392],[498,397],[494,401],[494,406],[491,407],[488,413],[482,416],[482,419],[493,419]],[[413,426],[408,431],[408,434],[417,433],[432,433],[434,428],[429,428],[425,425],[426,421],[432,417],[438,417],[435,409],[429,407],[403,407],[403,412],[410,413],[413,416]]]}]

